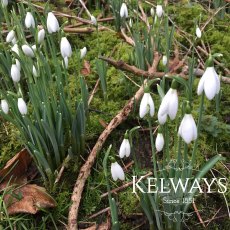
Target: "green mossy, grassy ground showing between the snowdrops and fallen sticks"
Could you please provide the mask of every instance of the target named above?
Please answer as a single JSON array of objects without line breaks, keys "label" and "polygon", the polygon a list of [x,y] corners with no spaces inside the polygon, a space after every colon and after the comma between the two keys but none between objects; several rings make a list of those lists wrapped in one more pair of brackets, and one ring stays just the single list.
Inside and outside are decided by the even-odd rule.
[{"label": "green mossy, grassy ground showing between the snowdrops and fallen sticks", "polygon": [[[187,2],[187,1],[186,1]],[[63,3],[61,2],[63,5]],[[59,5],[55,3],[55,5]],[[61,5],[61,6],[62,6]],[[58,7],[63,12],[65,8]],[[145,10],[149,10],[149,7],[146,6]],[[181,3],[175,3],[169,7],[169,13],[172,15],[172,20],[179,26],[181,29],[186,31],[188,34],[194,33],[194,20],[200,22],[203,25],[208,19],[207,12],[204,9],[204,6],[194,3],[190,5],[181,5]],[[95,12],[95,15],[99,14],[99,11]],[[200,18],[200,15],[202,17]],[[226,67],[230,67],[230,56],[229,50],[226,47],[230,47],[230,27],[228,26],[229,15],[226,15],[224,19],[218,19],[213,17],[211,22],[208,24],[206,29],[206,34],[204,36],[204,42],[208,43],[211,47],[212,52],[222,53],[224,55],[222,63]],[[107,25],[111,26],[111,25]],[[176,39],[182,43],[184,46],[188,46],[188,40],[185,39],[182,35],[175,35]],[[89,35],[74,35],[69,36],[69,39],[77,49],[80,49],[84,46],[87,47],[88,53],[86,60],[90,62],[91,73],[88,76],[85,76],[87,81],[89,91],[91,92],[94,88],[94,85],[98,79],[95,66],[95,57],[98,56],[98,52],[101,55],[110,56],[112,55],[114,59],[122,59],[128,61],[132,48],[127,45],[117,33],[111,31],[103,31],[98,34],[92,33]],[[190,39],[190,37],[189,37]],[[99,46],[97,46],[99,41]],[[76,53],[74,54],[76,55]],[[71,94],[75,95],[80,93],[80,88],[76,86],[79,85],[77,79],[77,69],[79,69],[79,63],[76,63],[73,58],[69,63],[70,71],[70,87],[69,90]],[[130,74],[129,74],[130,75]],[[137,83],[140,83],[140,79],[137,76],[130,75]],[[103,92],[101,87],[99,87],[97,93],[94,95],[92,104],[90,105],[90,118],[89,125],[87,126],[87,145],[89,149],[93,147],[98,136],[104,130],[100,124],[100,120],[105,123],[108,123],[117,113],[122,109],[127,100],[134,94],[137,90],[137,87],[133,85],[124,74],[116,70],[113,67],[108,67],[107,72],[107,89],[108,89],[108,100],[105,102],[103,100]],[[198,81],[197,81],[198,82]],[[197,83],[196,82],[196,83]],[[156,108],[159,108],[159,97],[157,97],[156,88],[152,89],[154,91],[154,96],[156,98],[155,105]],[[195,87],[194,87],[195,93]],[[183,95],[181,95],[183,96]],[[205,101],[205,115],[203,117],[202,125],[202,135],[200,138],[200,151],[198,152],[197,162],[201,165],[207,158],[210,158],[217,152],[222,153],[224,156],[227,156],[229,152],[229,135],[230,135],[230,125],[229,125],[229,98],[230,98],[230,88],[228,85],[222,84],[222,96],[219,112],[216,112],[215,103],[210,103]],[[182,98],[181,98],[182,99]],[[198,104],[199,99],[196,97],[194,100],[194,115],[198,113]],[[137,106],[137,105],[136,105]],[[88,217],[103,209],[108,207],[107,198],[101,198],[101,195],[106,192],[106,182],[103,173],[102,160],[104,157],[104,152],[107,149],[108,145],[113,144],[113,151],[115,154],[118,153],[119,145],[123,139],[123,134],[126,129],[136,126],[139,122],[142,125],[145,124],[143,121],[139,121],[136,113],[132,113],[125,123],[121,124],[108,138],[104,149],[98,154],[97,161],[93,167],[90,177],[87,180],[83,197],[81,200],[80,215],[79,219],[81,221],[87,221]],[[151,155],[148,153],[150,151],[148,140],[142,140],[141,135],[136,136],[136,140],[140,141],[140,146],[137,147],[136,154],[142,151],[142,164],[144,166],[151,166],[150,158]],[[11,158],[17,151],[22,148],[19,139],[20,134],[15,131],[14,127],[8,123],[1,122],[0,124],[0,166],[2,167],[4,163]],[[138,137],[139,136],[139,137]],[[143,141],[143,142],[141,142]],[[146,142],[145,142],[146,141]],[[145,146],[145,151],[142,147]],[[83,154],[83,158],[87,158],[87,154]],[[146,155],[144,155],[146,154]],[[147,159],[145,157],[147,156]],[[228,158],[229,160],[229,158]],[[146,163],[147,162],[147,163]],[[124,162],[126,163],[126,162]],[[224,169],[222,164],[218,164],[216,167],[220,173],[228,176],[228,172]],[[57,207],[53,210],[44,211],[40,213],[37,217],[23,215],[20,216],[21,220],[24,221],[25,226],[39,226],[39,222],[43,221],[44,229],[54,229],[56,226],[62,226],[62,223],[66,223],[68,215],[68,207],[70,206],[70,196],[72,192],[72,187],[77,178],[77,172],[79,170],[79,165],[76,165],[73,162],[68,164],[67,170],[63,174],[62,180],[59,186],[54,191],[53,196],[57,201]],[[144,170],[144,169],[143,169]],[[147,169],[145,169],[147,171]],[[74,175],[74,176],[73,176]],[[128,172],[128,178],[131,180],[132,172]],[[111,181],[112,187],[118,187],[121,185],[120,182],[114,183]],[[122,229],[131,229],[133,227],[133,219],[125,219],[124,216],[128,217],[134,213],[140,213],[141,208],[138,204],[138,199],[134,194],[131,193],[131,188],[128,188],[121,193],[118,193],[116,196],[117,201],[119,202],[119,216],[122,220]],[[226,199],[229,201],[230,195],[226,194]],[[222,212],[226,214],[226,204],[224,199],[220,195],[213,195],[205,197],[203,200],[202,197],[197,199],[198,209],[205,210],[201,213],[204,219],[210,219],[217,209],[222,204]],[[210,206],[210,204],[212,204]],[[208,207],[208,210],[206,209]],[[224,211],[223,211],[224,210]],[[48,215],[47,215],[48,213]],[[101,221],[105,219],[105,216],[99,217],[97,220]],[[125,221],[127,220],[127,221]],[[220,219],[223,220],[223,219]],[[189,220],[187,225],[196,226],[196,229],[202,229],[200,225],[197,224],[197,218],[194,215],[193,218]],[[227,218],[224,221],[217,220],[210,224],[209,229],[229,229],[230,222]],[[35,229],[35,228],[34,228]]]}]

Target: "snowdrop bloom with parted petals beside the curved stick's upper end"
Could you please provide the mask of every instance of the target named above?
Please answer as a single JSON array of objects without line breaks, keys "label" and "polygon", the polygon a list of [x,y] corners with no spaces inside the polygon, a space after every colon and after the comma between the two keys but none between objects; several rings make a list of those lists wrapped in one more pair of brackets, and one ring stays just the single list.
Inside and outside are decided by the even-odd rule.
[{"label": "snowdrop bloom with parted petals beside the curved stick's upper end", "polygon": [[144,96],[141,99],[139,115],[140,118],[143,118],[146,114],[149,113],[153,117],[155,112],[154,102],[152,96],[150,95],[149,88],[145,89]]}]

